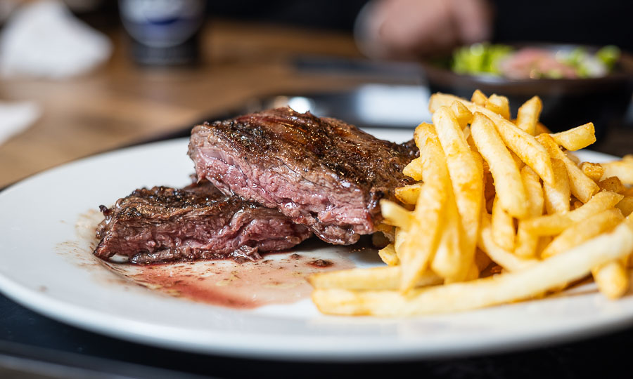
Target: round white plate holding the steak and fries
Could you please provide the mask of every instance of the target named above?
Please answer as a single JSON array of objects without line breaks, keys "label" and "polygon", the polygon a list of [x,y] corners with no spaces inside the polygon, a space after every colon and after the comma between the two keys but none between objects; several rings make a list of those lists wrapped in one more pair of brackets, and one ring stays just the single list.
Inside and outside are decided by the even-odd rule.
[{"label": "round white plate holding the steak and fries", "polygon": [[[372,133],[396,141],[412,134]],[[483,354],[633,324],[633,296],[608,301],[593,284],[574,294],[473,312],[376,319],[324,316],[307,299],[255,310],[216,307],[104,280],[112,275],[106,268],[82,264],[91,252],[76,241],[78,216],[137,187],[186,185],[193,171],[186,150],[186,140],[123,149],[54,168],[1,192],[0,290],[37,312],[98,333],[251,358],[376,361]],[[582,158],[613,157],[583,152]],[[60,247],[74,248],[76,255],[60,254]]]}]

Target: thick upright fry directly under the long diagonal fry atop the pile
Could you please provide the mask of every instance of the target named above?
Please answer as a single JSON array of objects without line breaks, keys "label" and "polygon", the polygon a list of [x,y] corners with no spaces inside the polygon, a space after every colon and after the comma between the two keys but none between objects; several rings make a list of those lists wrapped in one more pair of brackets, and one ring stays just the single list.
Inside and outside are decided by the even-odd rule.
[{"label": "thick upright fry directly under the long diagonal fry atop the pile", "polygon": [[[490,167],[501,208],[513,217],[525,217],[528,213],[525,187],[518,167],[494,128],[494,124],[485,115],[476,112],[471,125],[471,134],[478,151]],[[507,248],[507,246],[504,247]]]}]

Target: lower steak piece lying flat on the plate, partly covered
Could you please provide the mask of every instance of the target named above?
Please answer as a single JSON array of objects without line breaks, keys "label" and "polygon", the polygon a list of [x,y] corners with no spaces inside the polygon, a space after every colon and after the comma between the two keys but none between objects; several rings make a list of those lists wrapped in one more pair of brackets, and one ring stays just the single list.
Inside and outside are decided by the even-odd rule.
[{"label": "lower steak piece lying flat on the plate, partly covered", "polygon": [[257,251],[291,248],[312,233],[274,208],[227,197],[209,182],[184,189],[136,189],[105,220],[94,251],[99,258],[127,255],[139,264],[172,260],[260,258]]}]

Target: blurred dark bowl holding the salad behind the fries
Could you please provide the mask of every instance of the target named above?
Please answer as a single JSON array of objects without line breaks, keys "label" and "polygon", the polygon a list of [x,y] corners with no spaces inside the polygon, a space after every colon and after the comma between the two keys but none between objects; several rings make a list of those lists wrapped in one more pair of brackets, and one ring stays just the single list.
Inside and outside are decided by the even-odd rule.
[{"label": "blurred dark bowl holding the salad behind the fries", "polygon": [[[589,53],[598,50],[596,46],[571,44],[521,43],[510,46],[553,51],[582,47]],[[624,51],[613,71],[599,78],[507,79],[456,74],[448,65],[438,65],[430,60],[423,61],[422,66],[431,93],[452,93],[468,99],[475,89],[486,95],[497,93],[509,98],[511,112],[515,115],[523,102],[538,95],[543,101],[540,120],[552,131],[563,131],[592,121],[600,137],[608,126],[622,121],[633,96],[633,55]]]}]

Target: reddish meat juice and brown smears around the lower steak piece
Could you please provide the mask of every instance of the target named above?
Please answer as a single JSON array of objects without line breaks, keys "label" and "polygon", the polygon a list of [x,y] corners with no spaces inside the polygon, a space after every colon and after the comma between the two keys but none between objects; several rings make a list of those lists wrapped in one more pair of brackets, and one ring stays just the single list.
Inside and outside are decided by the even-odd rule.
[{"label": "reddish meat juice and brown smears around the lower steak piece", "polygon": [[[76,225],[78,241],[60,244],[58,251],[68,254],[71,252],[65,250],[73,246],[72,255],[82,255],[82,260],[73,260],[93,260],[96,263],[92,265],[94,270],[101,271],[106,267],[127,283],[211,305],[252,309],[289,304],[309,297],[312,287],[305,278],[310,274],[355,266],[348,258],[350,248],[331,249],[316,239],[306,241],[292,251],[267,253],[261,260],[241,263],[233,260],[156,265],[105,262],[92,255],[98,243],[94,230],[101,221],[100,216],[96,212],[80,215]],[[120,281],[110,281],[110,284],[120,285]]]}]

